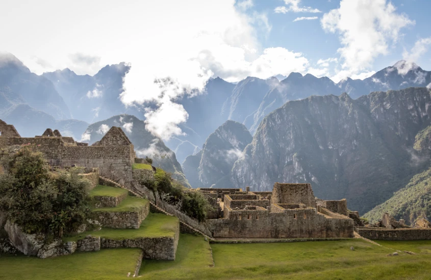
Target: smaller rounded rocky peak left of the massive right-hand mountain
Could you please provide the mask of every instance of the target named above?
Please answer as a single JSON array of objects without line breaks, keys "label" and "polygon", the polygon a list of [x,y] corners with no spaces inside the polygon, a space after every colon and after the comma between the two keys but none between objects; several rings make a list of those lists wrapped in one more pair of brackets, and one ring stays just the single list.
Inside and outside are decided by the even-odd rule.
[{"label": "smaller rounded rocky peak left of the massive right-hand mountain", "polygon": [[232,187],[232,166],[251,139],[247,128],[238,122],[226,121],[218,127],[207,138],[201,152],[188,156],[183,163],[192,187]]}]

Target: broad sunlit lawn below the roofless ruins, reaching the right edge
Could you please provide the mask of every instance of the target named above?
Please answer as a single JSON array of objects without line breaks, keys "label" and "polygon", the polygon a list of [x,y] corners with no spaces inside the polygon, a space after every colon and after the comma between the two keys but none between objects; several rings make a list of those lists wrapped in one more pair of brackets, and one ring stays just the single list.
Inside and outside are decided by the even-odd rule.
[{"label": "broad sunlit lawn below the roofless ruins, reaching the right edge", "polygon": [[[215,267],[204,266],[196,241],[182,244],[175,262],[146,261],[143,279],[429,279],[431,254],[386,257],[396,249],[431,247],[431,241],[377,246],[361,239],[269,244],[211,244]],[[413,243],[411,243],[413,242]],[[384,242],[382,242],[384,243]],[[387,247],[386,245],[390,245]],[[188,254],[182,246],[190,247]],[[350,250],[350,246],[354,250]],[[416,250],[419,252],[419,250]],[[186,261],[187,260],[187,261]],[[187,263],[187,265],[182,265]]]}]

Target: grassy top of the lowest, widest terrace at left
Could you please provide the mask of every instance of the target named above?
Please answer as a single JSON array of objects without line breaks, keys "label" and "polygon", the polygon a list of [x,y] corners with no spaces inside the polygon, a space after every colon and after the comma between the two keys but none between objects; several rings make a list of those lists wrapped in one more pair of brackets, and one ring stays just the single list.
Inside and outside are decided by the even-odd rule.
[{"label": "grassy top of the lowest, widest terrace at left", "polygon": [[173,237],[178,218],[158,213],[148,213],[146,219],[141,223],[139,229],[108,229],[103,228],[99,231],[83,232],[75,236],[64,237],[63,240],[77,241],[86,235],[100,236],[107,239],[134,239],[138,237]]}]

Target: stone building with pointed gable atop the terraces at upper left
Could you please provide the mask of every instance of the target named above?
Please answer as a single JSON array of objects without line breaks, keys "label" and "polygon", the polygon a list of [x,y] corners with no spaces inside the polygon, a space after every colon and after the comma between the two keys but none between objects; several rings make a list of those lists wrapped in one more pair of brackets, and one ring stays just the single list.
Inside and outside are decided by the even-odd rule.
[{"label": "stone building with pointed gable atop the terraces at upper left", "polygon": [[122,185],[132,181],[132,164],[135,162],[133,144],[121,128],[111,129],[99,142],[88,146],[64,137],[58,130],[46,129],[41,136],[21,137],[13,125],[0,120],[0,149],[13,145],[35,145],[49,165],[97,167],[100,176]]}]

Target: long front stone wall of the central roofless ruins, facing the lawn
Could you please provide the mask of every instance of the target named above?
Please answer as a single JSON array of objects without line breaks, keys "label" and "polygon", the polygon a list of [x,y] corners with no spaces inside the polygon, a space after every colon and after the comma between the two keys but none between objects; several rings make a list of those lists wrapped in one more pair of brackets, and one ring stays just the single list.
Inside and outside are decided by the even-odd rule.
[{"label": "long front stone wall of the central roofless ruins, facing the lawn", "polygon": [[[273,205],[271,205],[272,207]],[[280,212],[232,210],[224,207],[224,218],[207,220],[218,238],[333,238],[353,237],[353,220],[327,218],[316,209],[283,209]]]}]

